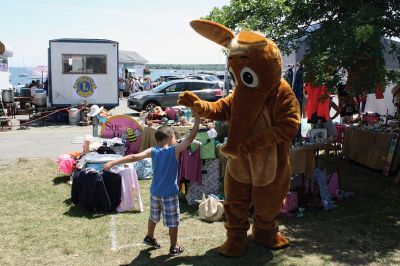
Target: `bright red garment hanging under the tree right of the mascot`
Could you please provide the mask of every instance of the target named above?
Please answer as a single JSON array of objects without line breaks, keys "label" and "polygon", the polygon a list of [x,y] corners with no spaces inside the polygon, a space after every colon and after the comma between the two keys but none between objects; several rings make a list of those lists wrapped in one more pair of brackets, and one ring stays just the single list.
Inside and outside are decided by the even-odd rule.
[{"label": "bright red garment hanging under the tree right of the mascot", "polygon": [[325,123],[330,119],[329,92],[325,85],[316,86],[306,83],[304,89],[307,93],[306,115],[308,123],[316,124],[318,120]]}]

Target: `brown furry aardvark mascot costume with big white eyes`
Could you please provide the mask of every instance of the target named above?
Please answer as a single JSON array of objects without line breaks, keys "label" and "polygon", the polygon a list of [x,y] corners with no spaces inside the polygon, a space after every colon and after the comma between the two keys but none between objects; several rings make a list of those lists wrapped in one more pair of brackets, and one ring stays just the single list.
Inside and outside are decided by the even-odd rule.
[{"label": "brown furry aardvark mascot costume with big white eyes", "polygon": [[281,78],[278,47],[264,36],[228,28],[207,20],[190,23],[202,36],[229,50],[228,68],[235,90],[217,102],[201,100],[192,92],[180,95],[179,104],[200,116],[229,121],[228,142],[221,152],[228,157],[224,209],[227,240],[218,252],[241,256],[249,229],[248,209],[254,206],[251,239],[271,249],[289,245],[278,232],[276,216],[290,185],[289,144],[300,124],[296,96]]}]

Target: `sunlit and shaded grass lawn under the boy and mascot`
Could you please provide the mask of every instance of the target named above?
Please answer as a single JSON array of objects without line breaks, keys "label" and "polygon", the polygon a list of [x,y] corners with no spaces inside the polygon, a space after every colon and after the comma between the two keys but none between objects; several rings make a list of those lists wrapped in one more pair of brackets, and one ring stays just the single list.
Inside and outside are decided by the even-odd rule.
[{"label": "sunlit and shaded grass lawn under the boy and mascot", "polygon": [[249,242],[245,256],[224,258],[223,222],[199,220],[181,201],[178,241],[186,251],[169,257],[168,231],[156,229],[162,248],[142,244],[150,181],[140,181],[145,212],[93,214],[70,201],[69,177],[50,160],[20,159],[0,166],[0,265],[321,265],[400,264],[400,186],[354,163],[340,169],[342,189],[355,192],[339,208],[306,210],[280,221],[291,246],[272,252]]}]

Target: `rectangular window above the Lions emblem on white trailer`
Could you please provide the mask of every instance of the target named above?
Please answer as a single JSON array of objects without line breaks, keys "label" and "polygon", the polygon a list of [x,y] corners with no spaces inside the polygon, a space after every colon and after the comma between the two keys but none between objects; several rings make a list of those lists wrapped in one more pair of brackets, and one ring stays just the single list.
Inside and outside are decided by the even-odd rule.
[{"label": "rectangular window above the Lions emblem on white trailer", "polygon": [[63,54],[63,74],[107,74],[107,55]]}]

